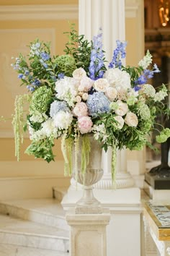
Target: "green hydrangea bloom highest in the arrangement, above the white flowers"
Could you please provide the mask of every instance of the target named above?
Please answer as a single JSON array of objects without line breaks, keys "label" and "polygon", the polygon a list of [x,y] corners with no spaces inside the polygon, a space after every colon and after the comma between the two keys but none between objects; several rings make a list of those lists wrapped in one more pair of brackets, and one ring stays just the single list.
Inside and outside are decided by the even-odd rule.
[{"label": "green hydrangea bloom highest in the arrangement, above the white flowers", "polygon": [[59,73],[64,73],[68,77],[72,77],[73,71],[76,69],[76,62],[71,55],[61,55],[55,59]]}]

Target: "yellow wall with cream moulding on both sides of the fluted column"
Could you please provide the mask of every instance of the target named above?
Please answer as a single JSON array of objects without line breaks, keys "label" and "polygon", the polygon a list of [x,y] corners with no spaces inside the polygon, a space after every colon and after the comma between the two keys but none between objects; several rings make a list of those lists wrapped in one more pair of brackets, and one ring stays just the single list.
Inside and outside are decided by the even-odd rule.
[{"label": "yellow wall with cream moulding on both sides of the fluted column", "polygon": [[[143,1],[126,0],[125,3],[127,64],[136,65],[144,53]],[[27,54],[25,46],[37,37],[52,42],[53,54],[62,54],[67,40],[63,32],[69,29],[68,20],[75,23],[78,29],[78,0],[0,0],[0,116],[11,116],[14,113],[15,95],[27,92],[19,87],[17,72],[10,67],[11,56],[17,56],[20,51]],[[26,138],[22,145],[21,161],[17,162],[11,120],[0,123],[0,179],[63,176],[60,141],[56,142],[54,151],[58,161],[50,164],[25,155],[27,145],[29,140]],[[129,153],[128,158],[136,160],[141,158],[141,153]],[[65,181],[68,184],[68,179]]]}]

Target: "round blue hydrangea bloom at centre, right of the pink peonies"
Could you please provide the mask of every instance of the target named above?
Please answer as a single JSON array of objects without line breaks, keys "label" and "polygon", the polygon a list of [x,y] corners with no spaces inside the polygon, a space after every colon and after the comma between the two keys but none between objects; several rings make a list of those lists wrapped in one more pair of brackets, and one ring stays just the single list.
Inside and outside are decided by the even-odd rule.
[{"label": "round blue hydrangea bloom at centre, right of the pink peonies", "polygon": [[110,101],[102,92],[96,92],[89,95],[86,105],[90,116],[109,112]]}]

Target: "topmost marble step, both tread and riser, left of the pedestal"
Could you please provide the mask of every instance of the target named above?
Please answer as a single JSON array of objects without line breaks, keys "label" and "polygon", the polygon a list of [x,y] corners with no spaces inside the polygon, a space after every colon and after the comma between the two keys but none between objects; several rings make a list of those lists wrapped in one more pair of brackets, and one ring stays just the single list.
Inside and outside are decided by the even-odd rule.
[{"label": "topmost marble step, both tread and riser, left of the pedestal", "polygon": [[23,220],[69,230],[61,203],[53,198],[0,202],[0,213]]}]

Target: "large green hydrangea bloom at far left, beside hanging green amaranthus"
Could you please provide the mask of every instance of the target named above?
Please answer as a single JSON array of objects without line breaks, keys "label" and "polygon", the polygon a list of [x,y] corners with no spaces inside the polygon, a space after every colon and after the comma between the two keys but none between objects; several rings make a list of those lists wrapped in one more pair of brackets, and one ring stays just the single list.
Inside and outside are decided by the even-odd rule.
[{"label": "large green hydrangea bloom at far left, beside hanging green amaranthus", "polygon": [[39,111],[40,113],[48,111],[52,95],[52,90],[46,86],[42,86],[35,90],[30,103],[30,114],[34,114],[36,111]]}]

